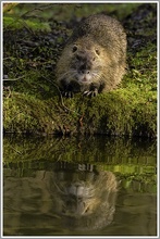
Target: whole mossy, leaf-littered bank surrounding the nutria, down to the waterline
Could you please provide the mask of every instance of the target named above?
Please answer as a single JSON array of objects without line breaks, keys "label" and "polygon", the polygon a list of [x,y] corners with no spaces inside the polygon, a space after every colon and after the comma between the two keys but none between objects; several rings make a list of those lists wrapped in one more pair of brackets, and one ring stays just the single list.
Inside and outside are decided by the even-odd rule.
[{"label": "whole mossy, leaf-littered bank surrounding the nutria, down to the waterline", "polygon": [[[63,99],[56,63],[73,26],[90,12],[124,25],[127,74],[111,92]],[[157,136],[157,3],[19,3],[4,8],[3,41],[4,133]]]}]

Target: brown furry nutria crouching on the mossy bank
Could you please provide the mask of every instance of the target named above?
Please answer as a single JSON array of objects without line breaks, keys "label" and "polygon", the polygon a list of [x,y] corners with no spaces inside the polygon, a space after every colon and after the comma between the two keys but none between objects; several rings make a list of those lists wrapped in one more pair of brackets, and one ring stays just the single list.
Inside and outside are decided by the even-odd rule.
[{"label": "brown furry nutria crouching on the mossy bank", "polygon": [[126,35],[119,21],[96,14],[73,30],[57,64],[64,96],[96,96],[116,88],[125,74]]}]

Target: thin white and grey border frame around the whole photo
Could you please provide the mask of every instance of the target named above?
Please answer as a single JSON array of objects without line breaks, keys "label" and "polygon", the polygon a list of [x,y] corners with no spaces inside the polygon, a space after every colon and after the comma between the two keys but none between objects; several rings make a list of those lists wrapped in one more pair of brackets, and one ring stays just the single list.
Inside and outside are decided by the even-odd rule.
[{"label": "thin white and grey border frame around the whole photo", "polygon": [[[1,0],[0,0],[1,1]],[[157,106],[157,112],[158,112],[158,117],[157,117],[157,136],[158,136],[158,140],[157,140],[157,171],[158,171],[158,179],[157,179],[157,181],[158,181],[158,192],[157,192],[157,236],[151,236],[151,237],[127,237],[127,236],[120,236],[120,237],[108,237],[108,236],[99,236],[99,237],[97,237],[97,236],[46,236],[46,237],[39,237],[39,236],[36,236],[36,237],[33,237],[33,236],[30,236],[30,237],[27,237],[27,236],[15,236],[15,237],[12,237],[12,236],[3,236],[2,235],[2,228],[3,228],[3,203],[2,203],[2,196],[3,196],[3,191],[2,191],[2,189],[3,189],[3,172],[2,172],[2,168],[3,168],[3,165],[2,165],[2,159],[3,159],[3,144],[2,144],[2,142],[3,142],[3,134],[2,134],[2,130],[3,130],[3,125],[2,125],[2,123],[3,123],[3,117],[2,117],[2,112],[3,112],[3,97],[2,97],[2,87],[3,87],[3,83],[2,83],[2,80],[3,80],[3,23],[2,23],[2,21],[3,21],[3,13],[2,13],[2,5],[3,5],[3,3],[9,3],[9,2],[17,2],[17,3],[157,3],[157,47],[158,47],[158,50],[157,50],[157,53],[158,53],[158,59],[157,59],[157,66],[158,66],[158,106]],[[27,1],[27,0],[24,0],[24,1],[15,1],[15,0],[13,0],[13,1],[1,1],[1,5],[0,5],[0,12],[1,12],[1,21],[0,21],[0,27],[1,27],[1,83],[0,83],[0,90],[1,90],[1,95],[0,95],[0,101],[1,101],[1,108],[0,108],[0,124],[1,124],[1,134],[0,134],[0,155],[1,155],[1,199],[0,199],[0,202],[1,202],[1,238],[159,238],[159,143],[160,143],[160,141],[159,141],[159,1],[145,1],[145,0],[143,0],[143,1],[139,1],[139,0],[135,0],[135,1],[125,1],[125,0],[123,0],[123,1],[112,1],[112,0],[108,0],[108,1],[85,1],[85,0],[83,0],[83,1],[75,1],[75,0],[73,0],[73,1],[65,1],[65,0],[61,0],[61,1],[53,1],[53,0],[47,0],[47,1]]]}]

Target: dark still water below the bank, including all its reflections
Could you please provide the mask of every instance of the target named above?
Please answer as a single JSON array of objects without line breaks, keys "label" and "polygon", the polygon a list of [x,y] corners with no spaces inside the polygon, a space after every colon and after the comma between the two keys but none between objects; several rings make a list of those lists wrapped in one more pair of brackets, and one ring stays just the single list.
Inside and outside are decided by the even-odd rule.
[{"label": "dark still water below the bank, including all its reflections", "polygon": [[157,142],[3,140],[4,236],[156,236]]}]

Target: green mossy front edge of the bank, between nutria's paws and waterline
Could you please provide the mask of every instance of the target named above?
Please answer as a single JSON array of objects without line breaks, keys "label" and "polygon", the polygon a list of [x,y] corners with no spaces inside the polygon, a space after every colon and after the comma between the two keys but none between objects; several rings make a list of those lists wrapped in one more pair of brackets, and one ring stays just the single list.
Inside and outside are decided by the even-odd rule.
[{"label": "green mossy front edge of the bank, between nutria's paws and waterline", "polygon": [[41,100],[26,93],[13,93],[4,100],[4,128],[5,131],[12,128],[12,131],[45,134],[155,136],[156,105],[144,98],[139,103],[136,97],[127,97],[128,101],[124,90],[116,90],[93,100],[76,96],[62,104],[58,97]]}]

